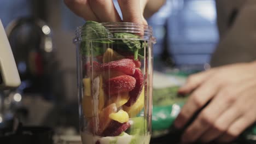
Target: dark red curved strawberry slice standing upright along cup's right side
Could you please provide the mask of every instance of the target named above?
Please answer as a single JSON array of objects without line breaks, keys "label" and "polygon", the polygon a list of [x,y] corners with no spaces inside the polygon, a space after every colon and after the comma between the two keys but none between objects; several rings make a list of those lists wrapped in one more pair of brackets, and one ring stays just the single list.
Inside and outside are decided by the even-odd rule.
[{"label": "dark red curved strawberry slice standing upright along cup's right side", "polygon": [[127,103],[125,103],[126,106],[131,106],[136,102],[143,88],[144,78],[140,69],[137,68],[135,70],[133,77],[135,77],[136,79],[136,84],[135,88],[133,88],[132,91],[129,92],[130,99],[127,101]]}]

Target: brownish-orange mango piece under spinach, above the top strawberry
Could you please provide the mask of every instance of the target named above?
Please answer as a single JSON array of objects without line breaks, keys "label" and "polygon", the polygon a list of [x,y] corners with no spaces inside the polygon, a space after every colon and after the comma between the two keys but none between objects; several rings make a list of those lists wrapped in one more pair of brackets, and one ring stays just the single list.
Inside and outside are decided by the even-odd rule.
[{"label": "brownish-orange mango piece under spinach, above the top strawberry", "polygon": [[124,59],[124,58],[125,58],[124,56],[108,48],[103,54],[103,63],[117,61],[119,59]]}]

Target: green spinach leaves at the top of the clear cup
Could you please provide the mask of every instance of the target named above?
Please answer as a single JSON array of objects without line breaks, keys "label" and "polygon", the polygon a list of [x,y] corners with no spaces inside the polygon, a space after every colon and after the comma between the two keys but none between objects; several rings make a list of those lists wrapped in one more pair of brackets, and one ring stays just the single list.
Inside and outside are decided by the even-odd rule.
[{"label": "green spinach leaves at the top of the clear cup", "polygon": [[[122,46],[123,51],[130,51],[134,55],[134,59],[144,56],[144,46],[140,37],[131,33],[110,33],[101,23],[95,21],[87,21],[82,27],[82,42],[80,44],[80,53],[85,56],[103,55],[104,47],[108,44]],[[110,38],[117,40],[113,41]],[[119,47],[120,48],[120,47]]]}]

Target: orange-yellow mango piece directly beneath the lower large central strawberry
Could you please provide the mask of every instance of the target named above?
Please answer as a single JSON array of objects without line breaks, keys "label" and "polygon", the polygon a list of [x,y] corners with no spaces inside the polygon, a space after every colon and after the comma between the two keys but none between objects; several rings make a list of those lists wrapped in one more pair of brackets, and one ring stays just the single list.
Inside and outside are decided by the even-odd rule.
[{"label": "orange-yellow mango piece directly beneath the lower large central strawberry", "polygon": [[123,106],[127,101],[129,100],[129,92],[125,93],[119,93],[117,95],[110,96],[110,99],[108,100],[108,104],[115,103],[117,107]]}]

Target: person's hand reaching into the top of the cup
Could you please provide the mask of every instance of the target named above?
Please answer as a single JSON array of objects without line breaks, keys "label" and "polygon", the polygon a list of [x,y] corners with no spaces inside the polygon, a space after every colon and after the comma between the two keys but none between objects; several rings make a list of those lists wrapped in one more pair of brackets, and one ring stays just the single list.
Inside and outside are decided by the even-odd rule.
[{"label": "person's hand reaching into the top of the cup", "polygon": [[[121,22],[112,0],[64,0],[75,14],[85,20],[97,22]],[[124,22],[147,25],[143,11],[148,0],[118,0]]]}]

